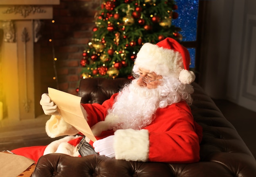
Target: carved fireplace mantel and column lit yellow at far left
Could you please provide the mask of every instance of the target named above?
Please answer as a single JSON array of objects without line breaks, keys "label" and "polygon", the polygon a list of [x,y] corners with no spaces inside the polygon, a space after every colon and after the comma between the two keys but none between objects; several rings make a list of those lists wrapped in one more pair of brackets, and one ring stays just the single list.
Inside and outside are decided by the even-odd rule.
[{"label": "carved fireplace mantel and column lit yellow at far left", "polygon": [[40,74],[40,54],[34,51],[40,38],[40,20],[52,19],[52,6],[59,3],[60,0],[0,2],[0,127],[34,121],[42,114],[40,81],[36,78]]}]

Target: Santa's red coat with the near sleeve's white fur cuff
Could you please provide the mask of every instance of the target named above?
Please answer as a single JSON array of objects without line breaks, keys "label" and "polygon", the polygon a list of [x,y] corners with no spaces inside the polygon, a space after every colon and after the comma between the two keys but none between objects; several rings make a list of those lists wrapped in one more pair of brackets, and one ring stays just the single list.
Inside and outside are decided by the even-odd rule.
[{"label": "Santa's red coat with the near sleeve's white fur cuff", "polygon": [[[112,108],[115,96],[117,94],[114,94],[102,105],[83,104],[90,126],[104,121],[107,110]],[[198,134],[202,134],[202,130],[199,130],[198,134],[196,133],[189,105],[185,101],[181,101],[158,109],[155,114],[153,122],[143,128],[147,131],[117,130],[115,132],[115,135],[118,136],[115,138],[116,158],[171,163],[199,161],[200,139]],[[102,132],[102,137],[96,138],[101,139],[111,134],[113,134],[112,131]],[[125,137],[130,139],[125,139]],[[135,143],[136,148],[129,146],[129,144],[134,146]]]}]

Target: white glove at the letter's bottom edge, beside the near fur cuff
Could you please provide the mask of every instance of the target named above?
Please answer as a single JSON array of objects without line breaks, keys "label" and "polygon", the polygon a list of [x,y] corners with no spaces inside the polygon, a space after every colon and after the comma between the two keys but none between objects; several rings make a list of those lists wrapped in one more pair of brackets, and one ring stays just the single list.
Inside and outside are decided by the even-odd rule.
[{"label": "white glove at the letter's bottom edge, beside the near fur cuff", "polygon": [[95,152],[98,152],[99,155],[105,155],[106,157],[114,158],[115,150],[114,145],[114,135],[109,137],[99,139],[93,143]]}]

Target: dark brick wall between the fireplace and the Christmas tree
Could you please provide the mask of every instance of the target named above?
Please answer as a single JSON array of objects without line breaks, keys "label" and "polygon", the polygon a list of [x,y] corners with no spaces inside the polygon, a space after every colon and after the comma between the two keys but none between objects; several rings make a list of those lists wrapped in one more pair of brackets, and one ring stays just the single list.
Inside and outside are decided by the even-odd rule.
[{"label": "dark brick wall between the fireplace and the Christmas tree", "polygon": [[[54,6],[52,20],[43,20],[40,45],[40,71],[36,79],[41,80],[41,92],[53,87],[77,94],[80,79],[82,53],[92,37],[94,14],[100,0],[61,0]],[[52,39],[52,42],[49,42]],[[54,61],[54,54],[57,58]],[[54,70],[54,65],[56,70]],[[53,79],[55,72],[57,79]],[[40,75],[40,76],[39,76]]]}]

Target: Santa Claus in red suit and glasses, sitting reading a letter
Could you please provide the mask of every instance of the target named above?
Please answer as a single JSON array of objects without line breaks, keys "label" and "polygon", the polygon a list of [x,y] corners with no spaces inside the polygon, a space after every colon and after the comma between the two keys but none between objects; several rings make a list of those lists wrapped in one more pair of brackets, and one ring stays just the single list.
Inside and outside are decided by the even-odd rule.
[{"label": "Santa Claus in red suit and glasses, sitting reading a letter", "polygon": [[[13,150],[35,161],[49,153],[71,156],[90,154],[128,161],[192,163],[199,161],[202,129],[194,122],[188,50],[172,38],[156,45],[145,43],[132,69],[134,80],[102,105],[82,104],[85,119],[97,141],[82,137],[79,131],[58,115],[48,94],[40,104],[49,137],[69,135],[48,146]],[[75,136],[76,135],[76,136]]]}]

